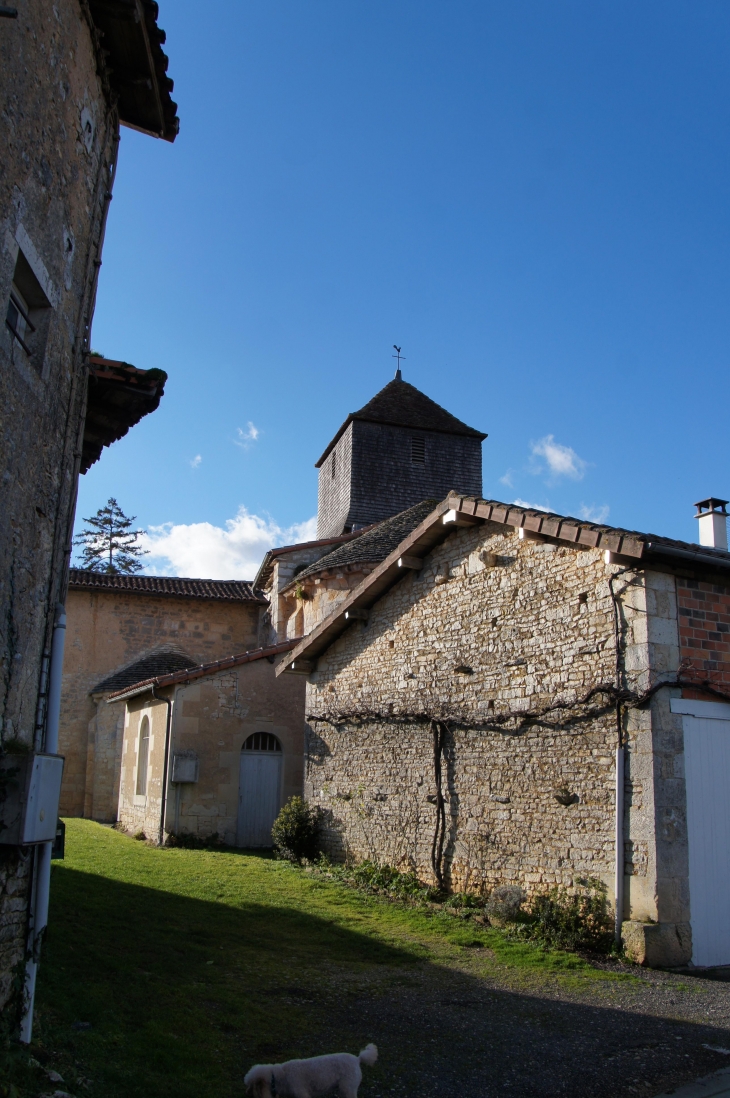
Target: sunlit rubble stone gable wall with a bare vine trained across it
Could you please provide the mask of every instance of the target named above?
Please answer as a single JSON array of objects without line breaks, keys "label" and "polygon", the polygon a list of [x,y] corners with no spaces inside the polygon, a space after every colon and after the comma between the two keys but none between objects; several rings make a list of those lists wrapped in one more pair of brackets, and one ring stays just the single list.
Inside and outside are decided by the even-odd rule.
[{"label": "sunlit rubble stone gable wall with a bare vine trained across it", "polygon": [[[597,550],[521,541],[490,523],[462,529],[321,656],[307,693],[305,787],[327,813],[332,853],[431,876],[435,717],[450,729],[453,887],[515,882],[529,892],[591,875],[613,895],[614,706],[596,712],[597,698],[563,728],[549,716],[521,725],[520,715],[615,682],[608,580],[617,571]],[[653,582],[616,580],[625,684],[638,690],[650,675]],[[656,919],[651,710],[629,710],[626,722],[626,915]],[[561,788],[572,804],[557,800]]]}]

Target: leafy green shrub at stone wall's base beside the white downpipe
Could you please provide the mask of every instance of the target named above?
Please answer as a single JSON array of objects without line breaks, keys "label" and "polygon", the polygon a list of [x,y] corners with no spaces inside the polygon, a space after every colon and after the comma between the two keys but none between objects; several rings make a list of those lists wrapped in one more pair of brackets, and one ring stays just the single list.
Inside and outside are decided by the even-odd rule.
[{"label": "leafy green shrub at stone wall's base beside the white downpipe", "polygon": [[526,921],[515,927],[518,937],[563,950],[609,952],[614,920],[607,910],[606,885],[591,877],[577,886],[573,893],[555,886],[534,896]]}]

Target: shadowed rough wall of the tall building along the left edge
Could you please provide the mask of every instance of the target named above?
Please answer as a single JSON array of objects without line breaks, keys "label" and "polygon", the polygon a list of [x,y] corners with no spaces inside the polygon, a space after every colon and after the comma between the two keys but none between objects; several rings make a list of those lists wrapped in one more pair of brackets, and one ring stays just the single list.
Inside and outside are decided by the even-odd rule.
[{"label": "shadowed rough wall of the tall building along the left edge", "polygon": [[[41,746],[53,608],[64,597],[86,401],[82,351],[119,138],[78,0],[2,20],[0,70],[0,743]],[[11,283],[36,328],[8,329]],[[0,1007],[23,954],[25,855],[0,851]]]}]

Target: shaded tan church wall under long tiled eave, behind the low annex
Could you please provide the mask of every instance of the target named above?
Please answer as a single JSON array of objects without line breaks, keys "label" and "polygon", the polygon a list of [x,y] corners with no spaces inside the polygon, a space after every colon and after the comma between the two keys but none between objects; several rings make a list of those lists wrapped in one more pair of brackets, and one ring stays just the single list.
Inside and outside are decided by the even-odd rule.
[{"label": "shaded tan church wall under long tiled eave, behind the low annex", "polygon": [[260,643],[256,603],[69,590],[59,750],[66,757],[61,814],[116,819],[122,738],[105,696],[91,691],[113,671],[164,646],[210,663]]}]

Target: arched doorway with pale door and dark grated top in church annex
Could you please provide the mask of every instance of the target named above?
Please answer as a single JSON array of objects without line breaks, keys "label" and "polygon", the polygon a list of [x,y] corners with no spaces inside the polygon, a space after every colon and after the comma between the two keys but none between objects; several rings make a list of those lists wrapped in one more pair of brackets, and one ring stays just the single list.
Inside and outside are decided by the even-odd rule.
[{"label": "arched doorway with pale door and dark grated top in church annex", "polygon": [[271,732],[254,732],[240,750],[239,847],[270,847],[281,807],[281,743]]}]

